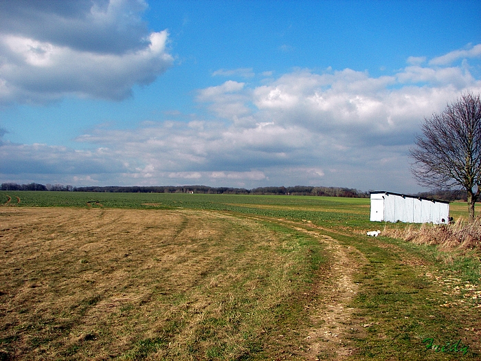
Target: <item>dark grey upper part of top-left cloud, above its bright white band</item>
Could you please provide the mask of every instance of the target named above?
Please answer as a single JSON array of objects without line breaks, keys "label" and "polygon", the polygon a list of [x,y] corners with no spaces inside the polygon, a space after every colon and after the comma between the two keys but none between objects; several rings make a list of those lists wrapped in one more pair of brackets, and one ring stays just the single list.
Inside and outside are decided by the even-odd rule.
[{"label": "dark grey upper part of top-left cloud, above its bright white band", "polygon": [[0,33],[78,52],[124,54],[148,41],[144,0],[0,1]]}]

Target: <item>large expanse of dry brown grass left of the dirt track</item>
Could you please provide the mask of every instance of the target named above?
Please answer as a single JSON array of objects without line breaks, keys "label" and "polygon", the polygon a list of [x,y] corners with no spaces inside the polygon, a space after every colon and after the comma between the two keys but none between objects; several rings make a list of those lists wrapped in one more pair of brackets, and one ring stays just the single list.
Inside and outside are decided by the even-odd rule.
[{"label": "large expanse of dry brown grass left of the dirt track", "polygon": [[1,360],[242,358],[294,328],[310,267],[293,233],[193,210],[5,207],[0,245]]}]

